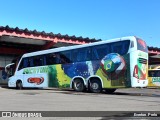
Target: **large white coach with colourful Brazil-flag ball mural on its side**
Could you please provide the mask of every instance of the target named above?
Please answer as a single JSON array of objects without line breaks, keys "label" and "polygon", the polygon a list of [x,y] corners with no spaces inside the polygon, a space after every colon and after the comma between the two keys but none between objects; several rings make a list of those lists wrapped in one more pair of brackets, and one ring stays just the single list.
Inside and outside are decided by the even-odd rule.
[{"label": "large white coach with colourful Brazil-flag ball mural on its side", "polygon": [[128,36],[26,53],[6,71],[9,87],[113,93],[117,88],[146,87],[147,66],[146,43]]}]

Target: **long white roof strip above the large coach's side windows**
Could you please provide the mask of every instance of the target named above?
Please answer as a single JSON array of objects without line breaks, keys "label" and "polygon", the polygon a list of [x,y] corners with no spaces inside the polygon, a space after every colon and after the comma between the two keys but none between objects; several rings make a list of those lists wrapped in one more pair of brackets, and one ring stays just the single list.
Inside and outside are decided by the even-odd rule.
[{"label": "long white roof strip above the large coach's side windows", "polygon": [[127,37],[115,38],[115,39],[110,39],[110,40],[103,40],[103,41],[98,41],[98,42],[88,43],[88,44],[83,44],[83,45],[73,45],[73,46],[67,46],[67,47],[52,48],[52,49],[47,49],[47,50],[26,53],[22,57],[30,57],[30,56],[42,55],[42,54],[53,53],[53,52],[61,52],[61,51],[72,50],[72,49],[76,49],[76,48],[101,45],[104,43],[111,43],[111,42],[117,42],[117,41],[123,41],[123,40],[135,40],[135,38],[136,38],[135,36],[127,36]]}]

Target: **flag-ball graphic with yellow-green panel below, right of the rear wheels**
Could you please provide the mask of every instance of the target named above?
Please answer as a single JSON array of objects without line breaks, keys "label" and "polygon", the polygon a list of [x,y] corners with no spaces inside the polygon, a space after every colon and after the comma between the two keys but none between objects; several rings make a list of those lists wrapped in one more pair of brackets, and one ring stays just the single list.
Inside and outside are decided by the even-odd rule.
[{"label": "flag-ball graphic with yellow-green panel below, right of the rear wheels", "polygon": [[102,78],[105,88],[125,86],[127,75],[124,57],[117,53],[110,53],[101,60],[100,64],[97,75]]}]

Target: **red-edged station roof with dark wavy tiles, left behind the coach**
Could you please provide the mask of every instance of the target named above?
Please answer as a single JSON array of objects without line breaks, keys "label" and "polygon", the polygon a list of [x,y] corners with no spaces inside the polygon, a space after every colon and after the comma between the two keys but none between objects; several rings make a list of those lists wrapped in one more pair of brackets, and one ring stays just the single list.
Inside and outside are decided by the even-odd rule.
[{"label": "red-edged station roof with dark wavy tiles, left behind the coach", "polygon": [[24,53],[96,41],[100,41],[100,39],[31,31],[27,28],[11,28],[8,25],[0,26],[0,69],[4,69],[5,65],[10,63],[13,58]]}]

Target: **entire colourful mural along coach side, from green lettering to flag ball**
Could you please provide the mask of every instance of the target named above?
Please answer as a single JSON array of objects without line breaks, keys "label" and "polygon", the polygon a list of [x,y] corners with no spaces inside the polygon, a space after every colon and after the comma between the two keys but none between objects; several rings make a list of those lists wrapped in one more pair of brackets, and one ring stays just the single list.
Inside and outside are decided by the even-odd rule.
[{"label": "entire colourful mural along coach side, from green lettering to flag ball", "polygon": [[[87,79],[92,75],[97,75],[102,79],[104,88],[130,87],[131,83],[126,83],[127,79],[130,79],[127,74],[127,71],[130,71],[127,68],[128,59],[129,55],[120,56],[117,53],[110,53],[102,60],[25,68],[23,74],[38,74],[38,78],[28,78],[28,82],[37,85],[48,82],[48,87],[67,88],[70,87],[73,77],[81,76]],[[140,63],[136,66],[144,67]],[[145,75],[142,73],[138,72],[139,78]],[[44,74],[47,74],[48,80],[44,80]]]}]

